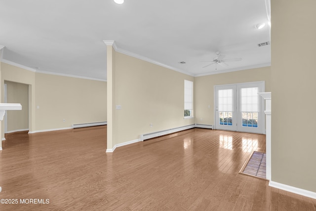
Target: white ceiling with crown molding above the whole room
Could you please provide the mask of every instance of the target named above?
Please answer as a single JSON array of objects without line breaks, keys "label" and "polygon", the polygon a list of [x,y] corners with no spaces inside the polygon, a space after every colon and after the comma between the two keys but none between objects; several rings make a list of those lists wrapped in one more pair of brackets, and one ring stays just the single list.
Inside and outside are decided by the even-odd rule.
[{"label": "white ceiling with crown molding above the whole room", "polygon": [[[113,40],[120,52],[192,76],[269,66],[270,45],[257,45],[270,41],[269,13],[270,0],[0,0],[2,60],[106,80],[103,41]],[[215,51],[242,60],[202,68]]]}]

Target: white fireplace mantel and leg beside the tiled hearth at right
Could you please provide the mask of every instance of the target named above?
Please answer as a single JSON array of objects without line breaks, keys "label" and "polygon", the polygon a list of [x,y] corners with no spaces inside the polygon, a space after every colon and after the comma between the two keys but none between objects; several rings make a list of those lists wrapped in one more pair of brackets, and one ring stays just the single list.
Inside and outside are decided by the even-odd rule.
[{"label": "white fireplace mantel and leg beside the tiled hearth at right", "polygon": [[266,177],[271,180],[271,92],[260,92],[258,94],[266,101]]}]

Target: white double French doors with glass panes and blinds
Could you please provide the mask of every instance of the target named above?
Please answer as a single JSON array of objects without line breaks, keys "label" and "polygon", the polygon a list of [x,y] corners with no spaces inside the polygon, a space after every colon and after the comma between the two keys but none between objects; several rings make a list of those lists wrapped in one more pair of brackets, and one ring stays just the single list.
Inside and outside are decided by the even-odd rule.
[{"label": "white double French doors with glass panes and blinds", "polygon": [[265,133],[264,82],[215,86],[215,128]]}]

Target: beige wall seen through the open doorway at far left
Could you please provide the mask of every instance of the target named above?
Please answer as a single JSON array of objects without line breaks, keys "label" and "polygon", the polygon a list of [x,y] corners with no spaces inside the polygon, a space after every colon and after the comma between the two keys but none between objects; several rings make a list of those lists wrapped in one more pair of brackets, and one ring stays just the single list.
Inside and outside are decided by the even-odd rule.
[{"label": "beige wall seen through the open doorway at far left", "polygon": [[29,129],[29,85],[4,81],[7,85],[7,103],[20,103],[22,110],[6,111],[7,131]]}]

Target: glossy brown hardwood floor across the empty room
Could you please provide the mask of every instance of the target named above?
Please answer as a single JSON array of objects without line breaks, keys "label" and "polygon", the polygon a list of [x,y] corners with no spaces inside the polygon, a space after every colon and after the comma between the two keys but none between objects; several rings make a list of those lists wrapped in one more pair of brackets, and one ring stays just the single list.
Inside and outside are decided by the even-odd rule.
[{"label": "glossy brown hardwood floor across the empty room", "polygon": [[[11,133],[0,151],[0,204],[13,210],[298,210],[316,200],[239,174],[265,135],[190,129],[106,150],[106,126]],[[39,199],[49,204],[21,204]],[[22,201],[23,202],[23,201]]]}]

